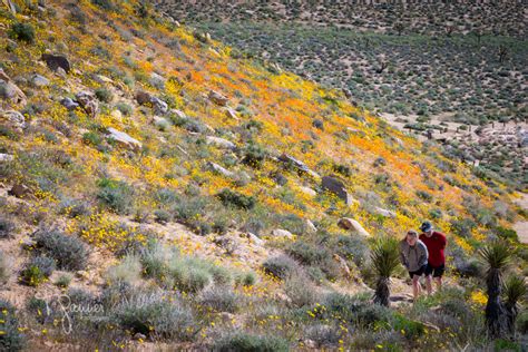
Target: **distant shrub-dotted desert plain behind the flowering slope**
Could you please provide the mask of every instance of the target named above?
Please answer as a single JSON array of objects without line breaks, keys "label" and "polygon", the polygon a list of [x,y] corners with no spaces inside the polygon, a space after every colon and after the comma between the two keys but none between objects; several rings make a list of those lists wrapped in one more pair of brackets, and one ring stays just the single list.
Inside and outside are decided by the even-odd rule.
[{"label": "distant shrub-dotted desert plain behind the flowering slope", "polygon": [[244,55],[340,88],[392,126],[448,144],[449,157],[528,185],[520,2],[157,3]]}]

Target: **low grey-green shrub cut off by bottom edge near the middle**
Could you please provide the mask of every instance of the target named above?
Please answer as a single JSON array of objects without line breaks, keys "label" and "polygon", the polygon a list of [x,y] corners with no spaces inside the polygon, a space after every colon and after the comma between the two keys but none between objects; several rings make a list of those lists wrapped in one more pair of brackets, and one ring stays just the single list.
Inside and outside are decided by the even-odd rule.
[{"label": "low grey-green shrub cut off by bottom edge near the middle", "polygon": [[282,352],[289,351],[290,346],[287,341],[277,336],[261,336],[245,332],[235,332],[218,340],[213,350],[218,352]]}]

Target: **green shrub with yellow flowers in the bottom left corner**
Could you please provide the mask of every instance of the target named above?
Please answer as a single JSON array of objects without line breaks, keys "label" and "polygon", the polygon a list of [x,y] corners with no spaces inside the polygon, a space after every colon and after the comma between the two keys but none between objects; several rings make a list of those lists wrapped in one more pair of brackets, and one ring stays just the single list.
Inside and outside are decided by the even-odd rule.
[{"label": "green shrub with yellow flowers in the bottom left corner", "polygon": [[19,322],[14,307],[7,301],[0,300],[0,351],[21,351],[26,343],[19,331]]}]

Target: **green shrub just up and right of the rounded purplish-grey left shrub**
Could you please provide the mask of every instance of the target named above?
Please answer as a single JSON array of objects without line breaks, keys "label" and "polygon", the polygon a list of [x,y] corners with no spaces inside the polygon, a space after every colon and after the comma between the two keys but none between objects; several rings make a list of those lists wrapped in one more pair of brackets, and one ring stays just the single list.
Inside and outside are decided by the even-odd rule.
[{"label": "green shrub just up and right of the rounded purplish-grey left shrub", "polygon": [[134,189],[123,180],[101,178],[97,182],[97,198],[111,211],[126,215],[130,211]]}]

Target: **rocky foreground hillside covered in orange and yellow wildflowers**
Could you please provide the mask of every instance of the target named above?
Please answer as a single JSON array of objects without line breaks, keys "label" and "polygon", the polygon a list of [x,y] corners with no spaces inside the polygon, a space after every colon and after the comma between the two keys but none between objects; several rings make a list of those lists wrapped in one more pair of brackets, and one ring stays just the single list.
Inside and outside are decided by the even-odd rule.
[{"label": "rocky foreground hillside covered in orange and yellow wildflowers", "polygon": [[[478,251],[526,276],[500,180],[133,0],[0,10],[0,350],[520,346],[482,333]],[[372,304],[424,219],[447,287]],[[506,273],[505,273],[506,274]],[[517,277],[516,276],[516,277]],[[446,339],[449,334],[450,339]]]}]

